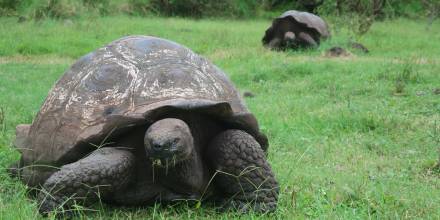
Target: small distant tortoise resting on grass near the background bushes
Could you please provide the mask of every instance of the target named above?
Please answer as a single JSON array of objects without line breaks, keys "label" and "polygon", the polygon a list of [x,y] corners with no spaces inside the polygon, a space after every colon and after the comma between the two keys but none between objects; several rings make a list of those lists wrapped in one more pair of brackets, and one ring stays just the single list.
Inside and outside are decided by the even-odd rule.
[{"label": "small distant tortoise resting on grass near the background bushes", "polygon": [[321,39],[330,37],[328,26],[319,16],[290,10],[272,21],[262,39],[272,49],[317,47]]}]

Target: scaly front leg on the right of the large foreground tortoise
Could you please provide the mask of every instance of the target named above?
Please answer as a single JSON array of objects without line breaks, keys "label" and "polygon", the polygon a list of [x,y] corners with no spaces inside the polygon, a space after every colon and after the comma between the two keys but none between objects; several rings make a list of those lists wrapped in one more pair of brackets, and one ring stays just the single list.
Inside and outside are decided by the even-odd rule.
[{"label": "scaly front leg on the right of the large foreground tortoise", "polygon": [[276,209],[278,183],[263,150],[251,135],[241,130],[226,130],[214,138],[207,155],[217,171],[215,186],[232,199],[225,201],[227,208],[242,212]]}]

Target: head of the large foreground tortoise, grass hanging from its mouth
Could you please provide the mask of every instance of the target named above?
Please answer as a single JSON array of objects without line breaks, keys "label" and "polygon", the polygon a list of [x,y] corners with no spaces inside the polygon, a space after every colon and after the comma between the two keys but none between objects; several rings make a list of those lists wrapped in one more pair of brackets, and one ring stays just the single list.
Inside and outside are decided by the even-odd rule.
[{"label": "head of the large foreground tortoise, grass hanging from its mouth", "polygon": [[194,150],[194,139],[184,121],[166,118],[148,128],[144,137],[144,146],[154,165],[174,166],[190,159]]}]

